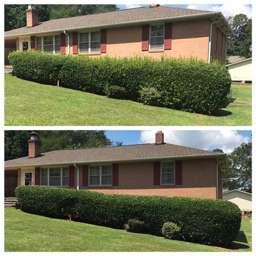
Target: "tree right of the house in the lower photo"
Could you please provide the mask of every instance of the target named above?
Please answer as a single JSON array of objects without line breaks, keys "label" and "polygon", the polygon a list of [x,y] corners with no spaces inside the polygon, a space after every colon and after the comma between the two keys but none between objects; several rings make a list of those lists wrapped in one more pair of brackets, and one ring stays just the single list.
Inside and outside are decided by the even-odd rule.
[{"label": "tree right of the house in the lower photo", "polygon": [[228,171],[223,187],[252,193],[252,143],[242,143],[228,154]]}]

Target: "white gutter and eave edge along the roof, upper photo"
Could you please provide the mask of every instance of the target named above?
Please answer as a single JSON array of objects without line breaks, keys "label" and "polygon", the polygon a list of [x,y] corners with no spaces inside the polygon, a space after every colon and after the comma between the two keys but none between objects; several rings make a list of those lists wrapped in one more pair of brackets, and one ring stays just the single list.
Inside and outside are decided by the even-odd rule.
[{"label": "white gutter and eave edge along the roof, upper photo", "polygon": [[[223,14],[221,12],[209,12],[209,13],[199,13],[199,14],[192,14],[192,15],[182,15],[182,16],[177,16],[177,17],[164,17],[164,18],[157,18],[157,19],[150,19],[150,20],[134,20],[134,21],[129,21],[129,22],[120,22],[120,23],[111,23],[111,24],[100,24],[100,25],[95,25],[95,26],[82,26],[82,27],[76,27],[76,28],[64,28],[64,31],[74,31],[74,30],[79,30],[79,29],[97,29],[97,28],[109,28],[109,27],[117,27],[117,26],[124,26],[124,25],[134,25],[134,24],[145,24],[148,22],[163,22],[163,21],[176,21],[176,20],[189,20],[189,19],[202,19],[202,18],[212,18],[214,15],[220,17],[221,19],[223,17]],[[233,34],[232,29],[228,25],[227,20],[223,20],[225,22],[225,25],[228,27],[228,32],[230,34]],[[40,24],[39,24],[40,25]],[[4,38],[8,39],[8,37],[17,37],[17,36],[25,36],[25,35],[36,35],[36,34],[41,34],[41,33],[57,33],[57,32],[62,32],[63,29],[55,29],[55,30],[48,30],[48,31],[34,31],[32,33],[23,33],[23,34],[15,34],[15,35],[4,35]],[[6,31],[8,32],[8,31]]]}]

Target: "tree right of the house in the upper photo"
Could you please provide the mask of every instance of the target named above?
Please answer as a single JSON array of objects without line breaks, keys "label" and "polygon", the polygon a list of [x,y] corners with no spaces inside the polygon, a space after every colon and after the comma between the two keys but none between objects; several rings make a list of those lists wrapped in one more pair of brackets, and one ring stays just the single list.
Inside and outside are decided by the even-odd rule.
[{"label": "tree right of the house in the upper photo", "polygon": [[243,14],[237,14],[234,17],[227,17],[234,36],[227,42],[227,55],[239,55],[246,58],[252,57],[252,19]]}]

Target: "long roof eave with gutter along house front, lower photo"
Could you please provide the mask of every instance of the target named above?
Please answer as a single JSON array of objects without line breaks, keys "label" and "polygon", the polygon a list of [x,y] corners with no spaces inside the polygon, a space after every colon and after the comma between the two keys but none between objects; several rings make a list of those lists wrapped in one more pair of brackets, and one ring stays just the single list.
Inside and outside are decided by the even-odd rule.
[{"label": "long roof eave with gutter along house front, lower photo", "polygon": [[4,170],[13,170],[13,168],[26,168],[26,167],[37,167],[37,166],[60,166],[67,164],[103,164],[103,163],[132,163],[132,162],[145,162],[145,161],[163,161],[168,159],[202,159],[202,158],[220,158],[225,159],[226,154],[204,154],[204,155],[191,155],[191,156],[168,156],[168,157],[147,157],[147,158],[134,158],[134,159],[118,159],[118,160],[102,160],[102,161],[69,161],[61,163],[45,163],[45,164],[24,164],[19,166],[4,166]]}]

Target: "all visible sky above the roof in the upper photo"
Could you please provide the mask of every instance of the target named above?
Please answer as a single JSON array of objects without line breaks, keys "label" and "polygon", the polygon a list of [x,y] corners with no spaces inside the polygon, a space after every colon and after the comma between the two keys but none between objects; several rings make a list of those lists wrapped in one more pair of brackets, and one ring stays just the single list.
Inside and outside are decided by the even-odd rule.
[{"label": "all visible sky above the roof in the upper photo", "polygon": [[[238,3],[237,3],[238,2]],[[148,6],[149,4],[116,4],[121,9],[136,8]],[[179,8],[190,8],[195,10],[207,10],[222,12],[225,17],[234,16],[239,13],[246,14],[249,18],[252,17],[252,4],[243,4],[243,1],[226,1],[225,4],[164,4],[165,6],[173,6]]]}]

